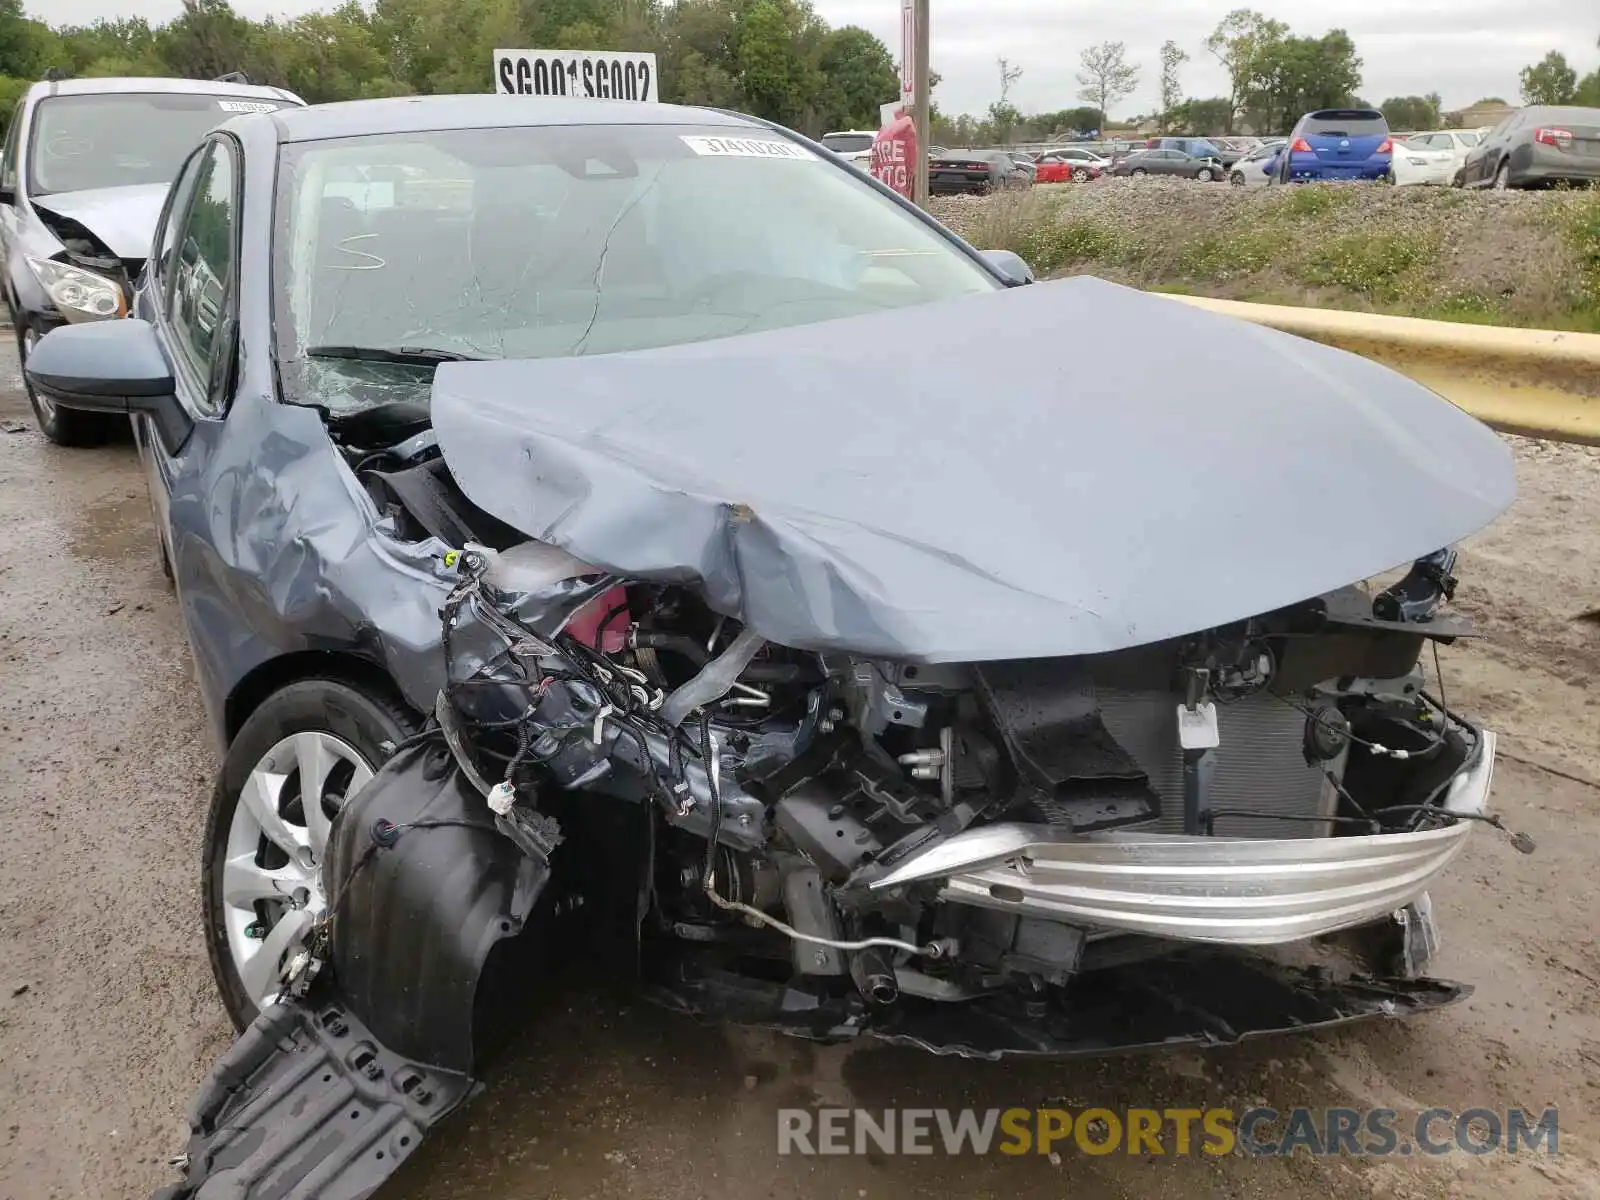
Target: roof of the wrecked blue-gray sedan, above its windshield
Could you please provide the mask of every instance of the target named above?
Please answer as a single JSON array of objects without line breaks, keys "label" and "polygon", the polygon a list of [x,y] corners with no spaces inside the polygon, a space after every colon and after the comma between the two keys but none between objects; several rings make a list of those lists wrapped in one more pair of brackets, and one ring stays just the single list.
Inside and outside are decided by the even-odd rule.
[{"label": "roof of the wrecked blue-gray sedan, above its windshield", "polygon": [[309,142],[435,130],[530,128],[541,125],[723,125],[765,130],[766,125],[720,109],[640,101],[568,99],[562,96],[397,96],[285,109],[269,117],[278,141]]}]

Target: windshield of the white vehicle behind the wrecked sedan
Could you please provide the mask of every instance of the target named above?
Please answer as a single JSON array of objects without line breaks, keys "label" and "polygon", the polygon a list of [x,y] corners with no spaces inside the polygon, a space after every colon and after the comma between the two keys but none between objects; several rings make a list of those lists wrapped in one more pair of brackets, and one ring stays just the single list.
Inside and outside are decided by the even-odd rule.
[{"label": "windshield of the white vehicle behind the wrecked sedan", "polygon": [[35,197],[168,184],[213,128],[288,101],[197,93],[50,96],[34,110],[27,186]]}]

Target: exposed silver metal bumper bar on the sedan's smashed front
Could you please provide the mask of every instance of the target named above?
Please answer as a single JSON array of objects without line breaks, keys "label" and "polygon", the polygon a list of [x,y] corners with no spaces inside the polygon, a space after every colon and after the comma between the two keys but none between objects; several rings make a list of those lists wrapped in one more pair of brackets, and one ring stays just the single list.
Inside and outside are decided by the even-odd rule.
[{"label": "exposed silver metal bumper bar on the sedan's smashed front", "polygon": [[[1483,811],[1494,734],[1450,784],[1445,813]],[[939,882],[944,899],[1096,930],[1274,946],[1403,909],[1461,853],[1472,821],[1416,834],[1221,838],[997,824],[958,834],[870,882]]]}]

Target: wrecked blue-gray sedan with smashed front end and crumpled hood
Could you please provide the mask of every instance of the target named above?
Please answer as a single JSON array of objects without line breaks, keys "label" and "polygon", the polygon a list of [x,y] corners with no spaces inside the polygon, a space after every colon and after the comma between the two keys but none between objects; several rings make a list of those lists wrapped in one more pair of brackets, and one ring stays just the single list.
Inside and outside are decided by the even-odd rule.
[{"label": "wrecked blue-gray sedan with smashed front end and crumpled hood", "polygon": [[[979,1058],[1470,990],[1427,888],[1498,824],[1494,734],[1430,650],[1514,483],[1426,389],[1018,286],[709,110],[240,118],[162,229],[139,320],[29,371],[134,414],[227,746],[243,1032],[168,1195],[370,1194],[574,946],[696,1018]],[[1062,330],[1125,370],[960,365]],[[1152,344],[1256,387],[1178,395]]]}]

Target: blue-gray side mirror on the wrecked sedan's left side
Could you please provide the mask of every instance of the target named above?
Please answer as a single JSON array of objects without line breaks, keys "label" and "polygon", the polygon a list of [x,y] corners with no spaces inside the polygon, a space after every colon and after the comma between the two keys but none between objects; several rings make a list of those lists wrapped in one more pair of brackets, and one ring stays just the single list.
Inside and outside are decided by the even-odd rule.
[{"label": "blue-gray side mirror on the wrecked sedan's left side", "polygon": [[130,317],[51,330],[27,357],[27,381],[62,408],[146,413],[168,451],[181,450],[194,427],[149,322]]}]

